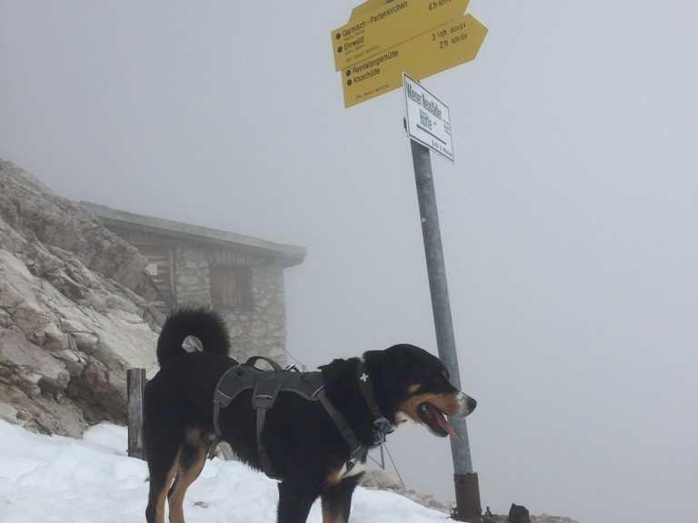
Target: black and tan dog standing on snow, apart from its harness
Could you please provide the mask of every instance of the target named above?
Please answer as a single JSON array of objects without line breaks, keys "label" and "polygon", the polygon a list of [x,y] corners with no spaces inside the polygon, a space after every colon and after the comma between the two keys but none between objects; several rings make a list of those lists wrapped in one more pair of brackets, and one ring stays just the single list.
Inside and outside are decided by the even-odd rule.
[{"label": "black and tan dog standing on snow, apart from its harness", "polygon": [[[203,351],[184,350],[187,336],[198,338]],[[161,369],[145,387],[148,523],[164,523],[167,499],[170,521],[184,523],[184,493],[204,468],[209,450],[221,439],[245,463],[263,469],[251,390],[241,392],[220,410],[219,435],[214,430],[216,384],[226,370],[237,365],[227,356],[228,344],[224,321],[214,313],[177,311],[165,322],[157,342]],[[437,436],[453,436],[444,414],[465,416],[475,408],[473,399],[451,385],[442,361],[413,345],[371,350],[363,359],[334,360],[321,367],[321,372],[326,399],[365,448],[375,445],[375,417],[360,380],[370,383],[374,405],[391,426],[412,419]],[[279,393],[264,421],[261,440],[281,479],[279,523],[304,523],[318,497],[322,498],[324,523],[348,521],[363,467],[362,463],[353,466],[346,439],[320,402]]]}]

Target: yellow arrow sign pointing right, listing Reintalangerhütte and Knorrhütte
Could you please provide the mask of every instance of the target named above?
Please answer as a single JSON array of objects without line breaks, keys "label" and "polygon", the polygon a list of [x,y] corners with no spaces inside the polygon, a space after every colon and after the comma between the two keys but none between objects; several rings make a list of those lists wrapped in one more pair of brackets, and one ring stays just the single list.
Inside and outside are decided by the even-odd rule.
[{"label": "yellow arrow sign pointing right, listing Reintalangerh\u00fctte and Knorrh\u00fctte", "polygon": [[403,73],[416,80],[473,60],[487,28],[473,15],[434,27],[342,72],[344,106],[351,107],[403,84]]}]

